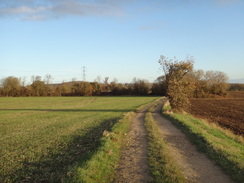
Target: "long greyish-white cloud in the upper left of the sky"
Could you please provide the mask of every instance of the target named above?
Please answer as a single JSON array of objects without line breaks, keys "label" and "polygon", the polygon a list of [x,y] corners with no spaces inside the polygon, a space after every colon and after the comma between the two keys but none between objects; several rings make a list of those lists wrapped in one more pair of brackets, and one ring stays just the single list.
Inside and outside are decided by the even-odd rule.
[{"label": "long greyish-white cloud in the upper left of the sky", "polygon": [[1,0],[0,17],[42,20],[65,16],[120,16],[123,3],[121,0]]}]

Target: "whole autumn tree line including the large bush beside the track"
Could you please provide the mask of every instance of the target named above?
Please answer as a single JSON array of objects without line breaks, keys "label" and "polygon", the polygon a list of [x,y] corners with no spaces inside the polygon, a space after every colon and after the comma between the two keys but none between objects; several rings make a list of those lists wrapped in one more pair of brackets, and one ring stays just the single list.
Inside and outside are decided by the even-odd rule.
[{"label": "whole autumn tree line including the large bush beside the track", "polygon": [[[203,71],[193,69],[193,60],[170,60],[160,57],[159,63],[164,75],[150,84],[143,79],[133,79],[131,83],[103,82],[98,78],[94,82],[63,82],[51,84],[52,76],[47,74],[44,79],[32,76],[31,84],[26,85],[26,78],[9,76],[0,80],[1,97],[18,96],[104,96],[104,95],[159,95],[168,96],[171,105],[187,106],[188,98],[203,98],[213,95],[224,96],[227,90],[243,90],[242,84],[228,84],[228,77],[220,71]],[[182,105],[182,106],[181,106]]]}]

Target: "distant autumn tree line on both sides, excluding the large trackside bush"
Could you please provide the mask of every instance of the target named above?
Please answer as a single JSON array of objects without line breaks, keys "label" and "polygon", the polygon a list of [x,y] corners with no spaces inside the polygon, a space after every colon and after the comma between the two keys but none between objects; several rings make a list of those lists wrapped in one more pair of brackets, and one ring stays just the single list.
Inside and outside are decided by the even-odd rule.
[{"label": "distant autumn tree line on both sides, excluding the large trackside bush", "polygon": [[[167,76],[167,75],[166,75]],[[40,76],[32,76],[32,82],[26,85],[25,79],[9,76],[0,81],[1,97],[19,96],[100,96],[100,95],[168,95],[167,89],[170,83],[166,76],[160,76],[154,83],[143,79],[133,79],[131,83],[118,82],[63,82],[61,84],[50,84],[51,76],[43,80]],[[229,87],[227,76],[218,71],[202,70],[191,71],[187,74],[187,88],[191,86],[190,97],[210,97],[212,95],[225,95]],[[194,84],[193,84],[194,83]],[[190,85],[191,84],[191,85]],[[193,86],[192,86],[193,85]],[[179,87],[172,88],[177,91]],[[230,90],[243,90],[244,85],[230,84]],[[185,89],[184,89],[185,90]],[[178,91],[182,94],[183,91]]]}]

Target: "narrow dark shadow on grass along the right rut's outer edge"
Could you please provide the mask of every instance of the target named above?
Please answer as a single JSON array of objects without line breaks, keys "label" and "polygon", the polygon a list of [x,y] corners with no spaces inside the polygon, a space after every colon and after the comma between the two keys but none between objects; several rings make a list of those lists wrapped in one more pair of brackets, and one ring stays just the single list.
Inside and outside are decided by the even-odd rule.
[{"label": "narrow dark shadow on grass along the right rut's outer edge", "polygon": [[234,162],[230,161],[226,156],[221,154],[220,152],[216,151],[204,137],[194,133],[191,129],[184,124],[183,122],[179,121],[171,117],[170,115],[163,114],[163,117],[170,120],[173,124],[175,124],[183,133],[187,135],[189,140],[196,145],[199,151],[204,152],[210,159],[216,162],[227,174],[229,174],[233,180],[237,182],[243,182],[244,174],[243,170],[238,168]]}]

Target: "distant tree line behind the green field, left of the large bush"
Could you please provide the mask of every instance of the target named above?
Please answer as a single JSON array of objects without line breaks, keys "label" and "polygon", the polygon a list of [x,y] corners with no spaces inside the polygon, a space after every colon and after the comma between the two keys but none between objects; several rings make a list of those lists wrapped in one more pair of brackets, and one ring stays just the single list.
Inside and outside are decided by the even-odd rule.
[{"label": "distant tree line behind the green field, left of the large bush", "polygon": [[151,84],[146,80],[134,79],[132,83],[108,83],[105,78],[100,82],[72,81],[61,84],[50,84],[51,75],[44,80],[32,76],[32,82],[26,85],[25,80],[14,76],[1,79],[1,97],[44,97],[44,96],[105,96],[105,95],[139,95],[152,94]]}]

